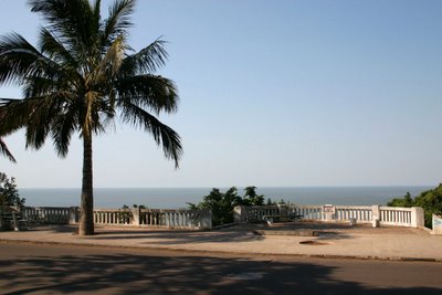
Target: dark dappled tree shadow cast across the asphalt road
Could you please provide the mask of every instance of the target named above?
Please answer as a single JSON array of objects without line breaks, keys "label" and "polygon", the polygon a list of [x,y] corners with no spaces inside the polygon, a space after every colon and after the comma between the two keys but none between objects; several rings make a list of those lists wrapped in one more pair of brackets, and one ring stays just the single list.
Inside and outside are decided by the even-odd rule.
[{"label": "dark dappled tree shadow cast across the asphalt road", "polygon": [[[156,256],[128,250],[94,254],[48,254],[0,261],[7,294],[441,294],[441,288],[373,288],[336,277],[337,266],[203,255]],[[48,247],[51,252],[51,247]],[[85,252],[85,253],[83,253]]]}]

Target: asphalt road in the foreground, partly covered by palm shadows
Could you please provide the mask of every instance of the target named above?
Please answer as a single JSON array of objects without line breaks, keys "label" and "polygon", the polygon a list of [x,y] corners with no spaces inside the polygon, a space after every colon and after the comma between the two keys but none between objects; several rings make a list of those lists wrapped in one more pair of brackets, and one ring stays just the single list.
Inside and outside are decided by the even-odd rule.
[{"label": "asphalt road in the foreground, partly covered by palm shadows", "polygon": [[0,294],[442,294],[442,263],[0,243]]}]

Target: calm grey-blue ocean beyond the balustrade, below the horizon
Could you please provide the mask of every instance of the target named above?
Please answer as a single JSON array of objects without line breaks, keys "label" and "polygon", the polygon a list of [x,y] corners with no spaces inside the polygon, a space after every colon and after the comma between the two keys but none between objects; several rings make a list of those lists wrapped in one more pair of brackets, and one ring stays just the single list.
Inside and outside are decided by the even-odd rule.
[{"label": "calm grey-blue ocean beyond the balustrade, below the horizon", "polygon": [[[263,187],[259,194],[273,201],[284,199],[295,204],[387,204],[393,198],[401,198],[408,191],[411,196],[431,187]],[[228,188],[220,188],[225,191]],[[198,203],[211,188],[96,188],[94,189],[95,208],[120,208],[124,204],[144,204],[152,209],[180,209],[187,203]],[[71,207],[80,206],[81,189],[19,189],[27,206]],[[243,196],[243,188],[239,188]]]}]

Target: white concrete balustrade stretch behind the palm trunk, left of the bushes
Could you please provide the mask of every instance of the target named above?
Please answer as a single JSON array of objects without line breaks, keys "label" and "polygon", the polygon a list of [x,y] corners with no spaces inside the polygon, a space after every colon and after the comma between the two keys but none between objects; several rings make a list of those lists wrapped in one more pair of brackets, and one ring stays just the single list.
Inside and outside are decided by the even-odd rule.
[{"label": "white concrete balustrade stretch behind the palm trunk, left of the bushes", "polygon": [[[22,218],[29,223],[75,224],[78,207],[24,207]],[[167,229],[211,229],[210,210],[171,209],[94,209],[94,223]]]}]

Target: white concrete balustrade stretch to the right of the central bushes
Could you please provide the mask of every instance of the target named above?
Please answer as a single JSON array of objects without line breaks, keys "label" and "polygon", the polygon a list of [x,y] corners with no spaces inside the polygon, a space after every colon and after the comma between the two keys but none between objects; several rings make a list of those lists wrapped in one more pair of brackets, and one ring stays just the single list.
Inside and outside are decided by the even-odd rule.
[{"label": "white concrete balustrade stretch to the right of the central bushes", "polygon": [[312,221],[351,221],[378,225],[420,228],[424,225],[423,209],[420,207],[380,206],[238,206],[234,209],[235,222],[256,222],[263,215],[286,215],[294,213]]}]

